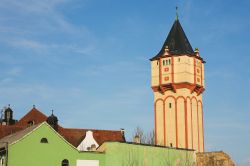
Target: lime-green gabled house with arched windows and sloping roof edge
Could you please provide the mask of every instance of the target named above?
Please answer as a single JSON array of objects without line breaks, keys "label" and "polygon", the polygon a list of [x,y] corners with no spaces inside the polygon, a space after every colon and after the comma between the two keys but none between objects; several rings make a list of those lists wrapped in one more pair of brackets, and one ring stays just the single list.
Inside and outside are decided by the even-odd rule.
[{"label": "lime-green gabled house with arched windows and sloping roof edge", "polygon": [[80,152],[43,122],[0,140],[0,166],[104,166],[105,154]]}]

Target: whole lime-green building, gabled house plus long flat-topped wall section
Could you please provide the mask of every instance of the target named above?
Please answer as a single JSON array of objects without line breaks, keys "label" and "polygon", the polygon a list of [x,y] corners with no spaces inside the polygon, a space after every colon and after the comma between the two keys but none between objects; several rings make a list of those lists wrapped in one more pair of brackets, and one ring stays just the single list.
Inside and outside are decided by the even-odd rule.
[{"label": "whole lime-green building, gabled house plus long flat-topped wall section", "polygon": [[0,166],[191,166],[193,150],[105,142],[79,151],[46,122],[0,139]]}]

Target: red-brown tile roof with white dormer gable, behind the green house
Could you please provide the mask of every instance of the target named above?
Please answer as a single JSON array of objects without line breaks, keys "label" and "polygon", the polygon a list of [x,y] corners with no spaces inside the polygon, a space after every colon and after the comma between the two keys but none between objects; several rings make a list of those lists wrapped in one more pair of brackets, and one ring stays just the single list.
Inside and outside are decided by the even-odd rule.
[{"label": "red-brown tile roof with white dormer gable, behind the green house", "polygon": [[[41,113],[38,109],[31,109],[23,118],[21,118],[15,125],[4,126],[0,125],[0,139],[15,133],[17,131],[27,128],[28,122],[33,121],[34,124],[42,123],[47,120],[47,116]],[[58,127],[58,133],[62,135],[69,143],[77,147],[85,138],[87,131],[92,131],[96,142],[101,145],[105,141],[125,142],[121,131],[113,130],[96,130],[96,129],[72,129]]]}]

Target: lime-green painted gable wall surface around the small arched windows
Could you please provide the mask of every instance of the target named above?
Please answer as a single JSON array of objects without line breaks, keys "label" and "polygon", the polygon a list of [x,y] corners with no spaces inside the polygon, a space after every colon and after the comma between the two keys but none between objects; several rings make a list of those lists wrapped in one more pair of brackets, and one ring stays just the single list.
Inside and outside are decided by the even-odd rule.
[{"label": "lime-green painted gable wall surface around the small arched windows", "polygon": [[[46,137],[48,144],[40,143]],[[69,160],[70,166],[76,166],[76,160],[99,160],[105,164],[105,155],[95,152],[78,152],[65,142],[46,123],[24,137],[21,141],[9,146],[8,166],[61,166],[63,159]]]}]

